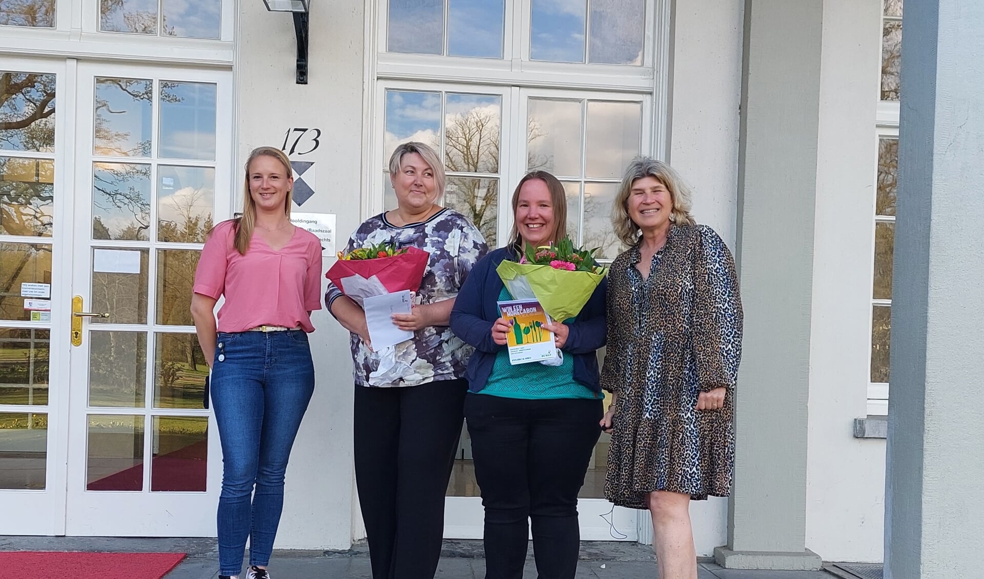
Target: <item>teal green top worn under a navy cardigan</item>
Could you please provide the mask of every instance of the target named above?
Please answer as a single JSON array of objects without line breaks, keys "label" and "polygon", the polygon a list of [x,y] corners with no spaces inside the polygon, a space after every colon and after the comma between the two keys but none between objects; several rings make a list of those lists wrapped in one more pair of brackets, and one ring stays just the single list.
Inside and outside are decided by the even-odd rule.
[{"label": "teal green top worn under a navy cardigan", "polygon": [[[499,301],[512,299],[509,290],[503,288],[499,294]],[[544,366],[538,362],[513,366],[509,363],[509,350],[506,348],[496,354],[492,374],[485,382],[485,387],[477,393],[525,400],[600,399],[603,396],[575,381],[574,356],[565,355],[564,362],[560,366]]]}]

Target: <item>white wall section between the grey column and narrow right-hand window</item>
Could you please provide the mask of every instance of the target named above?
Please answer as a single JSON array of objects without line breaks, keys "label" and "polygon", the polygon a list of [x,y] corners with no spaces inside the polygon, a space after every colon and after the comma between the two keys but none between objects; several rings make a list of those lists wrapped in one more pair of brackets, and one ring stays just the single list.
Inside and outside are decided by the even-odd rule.
[{"label": "white wall section between the grey column and narrow right-hand window", "polygon": [[881,2],[824,4],[806,546],[881,561],[885,440],[852,435],[867,413]]}]

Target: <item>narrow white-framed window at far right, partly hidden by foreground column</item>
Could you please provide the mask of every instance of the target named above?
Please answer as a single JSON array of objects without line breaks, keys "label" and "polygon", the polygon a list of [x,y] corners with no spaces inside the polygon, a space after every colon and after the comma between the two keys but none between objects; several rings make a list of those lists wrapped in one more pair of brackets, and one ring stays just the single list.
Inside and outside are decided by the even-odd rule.
[{"label": "narrow white-framed window at far right, partly hidden by foreground column", "polygon": [[868,414],[889,412],[889,345],[892,333],[892,247],[898,176],[898,73],[901,60],[902,0],[884,0],[882,82],[876,132],[878,169],[872,219],[874,256],[871,293],[871,359]]}]

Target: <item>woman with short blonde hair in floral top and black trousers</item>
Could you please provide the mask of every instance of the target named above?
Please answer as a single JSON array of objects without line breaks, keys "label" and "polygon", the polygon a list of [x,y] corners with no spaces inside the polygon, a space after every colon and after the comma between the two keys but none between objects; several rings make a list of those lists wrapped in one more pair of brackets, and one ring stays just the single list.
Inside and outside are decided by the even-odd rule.
[{"label": "woman with short blonde hair in floral top and black trousers", "polygon": [[448,327],[448,318],[461,284],[488,246],[464,215],[437,204],[445,175],[431,147],[397,147],[390,179],[397,208],[362,223],[345,252],[389,242],[430,254],[412,313],[394,316],[413,338],[395,347],[396,364],[379,368],[362,309],[332,284],[325,302],[352,334],[355,483],[373,578],[432,579],[471,354]]}]

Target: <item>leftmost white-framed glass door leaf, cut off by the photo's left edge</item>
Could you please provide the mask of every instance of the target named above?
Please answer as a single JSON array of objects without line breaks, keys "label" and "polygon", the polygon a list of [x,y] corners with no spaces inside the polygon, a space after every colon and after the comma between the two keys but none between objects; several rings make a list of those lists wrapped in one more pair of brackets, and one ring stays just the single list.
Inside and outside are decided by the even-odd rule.
[{"label": "leftmost white-framed glass door leaf, cut off by the photo's left edge", "polygon": [[[0,25],[54,26],[54,2],[0,2]],[[64,520],[67,364],[62,262],[63,61],[0,66],[0,534],[54,535]],[[59,106],[56,107],[56,104]],[[59,342],[59,340],[62,340]],[[59,423],[59,421],[62,421]],[[52,460],[48,460],[51,458]]]}]

